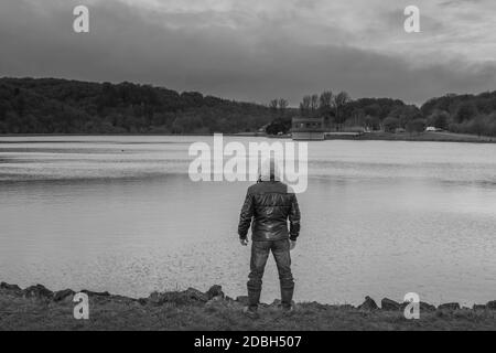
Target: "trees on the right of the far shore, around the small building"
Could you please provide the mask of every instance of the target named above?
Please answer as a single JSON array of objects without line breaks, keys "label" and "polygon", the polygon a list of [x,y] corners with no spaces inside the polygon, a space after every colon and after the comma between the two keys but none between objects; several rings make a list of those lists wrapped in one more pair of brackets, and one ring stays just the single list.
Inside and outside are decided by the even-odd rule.
[{"label": "trees on the right of the far shore, around the small building", "polygon": [[[273,99],[273,107],[280,99]],[[496,92],[479,95],[448,94],[431,98],[420,108],[392,98],[352,99],[346,92],[305,95],[300,103],[300,117],[324,119],[327,130],[382,130],[419,133],[435,127],[459,133],[496,136]],[[291,117],[280,115],[269,129],[287,132]]]}]

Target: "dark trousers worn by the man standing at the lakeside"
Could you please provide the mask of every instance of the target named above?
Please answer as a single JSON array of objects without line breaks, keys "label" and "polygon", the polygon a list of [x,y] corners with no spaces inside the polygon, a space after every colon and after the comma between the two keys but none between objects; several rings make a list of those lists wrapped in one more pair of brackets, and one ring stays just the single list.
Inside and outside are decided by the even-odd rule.
[{"label": "dark trousers worn by the man standing at the lakeside", "polygon": [[260,301],[262,277],[270,252],[272,252],[279,271],[281,303],[285,308],[291,307],[294,281],[291,274],[290,243],[289,239],[282,239],[251,243],[250,275],[247,284],[250,309],[256,309]]}]

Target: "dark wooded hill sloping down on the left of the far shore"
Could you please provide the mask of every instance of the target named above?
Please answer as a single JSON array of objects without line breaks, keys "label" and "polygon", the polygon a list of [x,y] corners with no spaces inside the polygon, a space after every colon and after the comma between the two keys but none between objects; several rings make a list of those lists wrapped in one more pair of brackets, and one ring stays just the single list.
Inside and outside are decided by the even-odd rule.
[{"label": "dark wooded hill sloping down on the left of the far shore", "polygon": [[131,83],[0,78],[0,133],[256,131],[268,107]]}]

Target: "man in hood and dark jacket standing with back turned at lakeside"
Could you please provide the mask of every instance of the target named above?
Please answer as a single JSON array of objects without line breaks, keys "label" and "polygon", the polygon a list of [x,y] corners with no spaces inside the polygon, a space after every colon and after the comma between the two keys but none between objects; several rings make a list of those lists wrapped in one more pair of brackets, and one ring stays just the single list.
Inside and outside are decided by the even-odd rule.
[{"label": "man in hood and dark jacket standing with back turned at lakeside", "polygon": [[284,311],[293,309],[294,281],[290,250],[296,246],[300,233],[300,208],[296,195],[280,182],[277,167],[273,159],[262,163],[257,184],[248,188],[239,217],[238,234],[244,246],[248,245],[247,233],[251,224],[252,245],[247,284],[249,304],[245,309],[245,313],[251,318],[258,317],[263,270],[270,252],[279,271],[281,307]]}]

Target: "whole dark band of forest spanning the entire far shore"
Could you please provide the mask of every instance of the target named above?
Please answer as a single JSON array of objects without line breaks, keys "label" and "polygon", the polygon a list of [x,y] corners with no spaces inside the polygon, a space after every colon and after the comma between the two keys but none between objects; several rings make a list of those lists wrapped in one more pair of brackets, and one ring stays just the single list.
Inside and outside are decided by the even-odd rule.
[{"label": "whole dark band of forest spanning the entire far shore", "polygon": [[421,107],[393,98],[306,95],[299,108],[255,104],[132,83],[0,78],[0,133],[287,133],[291,118],[322,117],[331,131],[419,133],[436,127],[496,136],[496,92],[446,94]]}]

